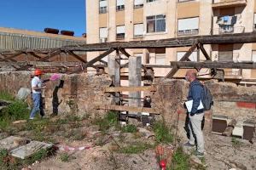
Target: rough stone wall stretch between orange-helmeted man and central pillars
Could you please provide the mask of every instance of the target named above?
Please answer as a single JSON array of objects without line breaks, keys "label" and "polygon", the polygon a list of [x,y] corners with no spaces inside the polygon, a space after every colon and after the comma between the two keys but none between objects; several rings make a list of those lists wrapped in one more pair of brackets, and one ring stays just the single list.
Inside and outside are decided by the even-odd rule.
[{"label": "rough stone wall stretch between orange-helmeted man and central pillars", "polygon": [[[54,113],[58,107],[59,114],[78,114],[94,116],[96,105],[110,105],[112,99],[103,93],[103,88],[111,85],[107,75],[89,74],[63,75],[61,81],[49,82],[45,91],[45,111]],[[60,86],[61,85],[61,86]]]}]

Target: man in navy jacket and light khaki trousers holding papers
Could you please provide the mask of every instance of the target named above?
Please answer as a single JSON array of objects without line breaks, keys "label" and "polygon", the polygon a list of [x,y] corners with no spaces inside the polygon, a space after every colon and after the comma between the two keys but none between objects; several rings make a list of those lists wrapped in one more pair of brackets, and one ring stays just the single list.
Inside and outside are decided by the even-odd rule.
[{"label": "man in navy jacket and light khaki trousers holding papers", "polygon": [[204,117],[204,110],[197,110],[197,108],[203,99],[203,86],[196,78],[196,71],[187,71],[186,80],[189,82],[188,100],[193,99],[193,105],[191,111],[188,113],[189,142],[184,145],[193,147],[196,144],[195,156],[202,157],[204,156],[204,137],[201,130],[201,122]]}]

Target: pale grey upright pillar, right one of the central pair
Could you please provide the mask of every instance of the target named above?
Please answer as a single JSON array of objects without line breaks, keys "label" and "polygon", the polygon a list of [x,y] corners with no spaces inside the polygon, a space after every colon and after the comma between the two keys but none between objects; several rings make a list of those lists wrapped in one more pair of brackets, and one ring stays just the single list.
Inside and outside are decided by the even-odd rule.
[{"label": "pale grey upright pillar, right one of the central pair", "polygon": [[[142,57],[130,57],[129,58],[129,86],[141,86],[142,82]],[[129,99],[130,106],[140,106],[141,105],[141,92],[130,92]],[[132,113],[131,113],[132,114]]]}]

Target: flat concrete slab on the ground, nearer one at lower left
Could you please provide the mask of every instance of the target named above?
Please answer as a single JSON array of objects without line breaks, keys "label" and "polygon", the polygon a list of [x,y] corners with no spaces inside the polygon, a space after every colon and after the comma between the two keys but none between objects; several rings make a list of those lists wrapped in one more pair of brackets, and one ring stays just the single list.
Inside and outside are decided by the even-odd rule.
[{"label": "flat concrete slab on the ground, nearer one at lower left", "polygon": [[29,144],[25,144],[10,151],[11,156],[18,157],[20,159],[25,159],[28,156],[32,156],[41,149],[49,149],[52,144],[47,144],[44,142],[32,141]]}]

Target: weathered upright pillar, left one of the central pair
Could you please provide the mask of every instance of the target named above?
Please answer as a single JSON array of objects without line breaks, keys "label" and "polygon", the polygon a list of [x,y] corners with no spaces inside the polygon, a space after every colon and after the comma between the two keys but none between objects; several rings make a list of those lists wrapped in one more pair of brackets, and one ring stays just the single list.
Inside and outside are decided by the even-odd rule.
[{"label": "weathered upright pillar, left one of the central pair", "polygon": [[[109,55],[108,56],[108,74],[112,79],[113,86],[114,87],[119,87],[120,86],[120,65],[119,65],[119,55]],[[114,96],[114,102],[116,105],[119,105],[120,99],[119,99],[120,94],[115,93]]]}]

